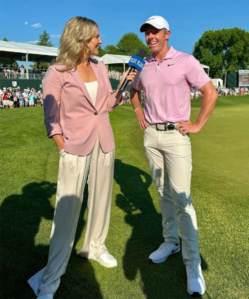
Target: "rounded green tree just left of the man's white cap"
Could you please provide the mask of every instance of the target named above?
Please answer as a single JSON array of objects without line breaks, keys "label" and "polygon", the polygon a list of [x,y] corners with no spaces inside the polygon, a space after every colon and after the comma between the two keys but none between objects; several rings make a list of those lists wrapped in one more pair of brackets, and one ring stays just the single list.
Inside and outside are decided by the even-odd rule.
[{"label": "rounded green tree just left of the man's white cap", "polygon": [[147,56],[150,55],[150,49],[134,32],[125,33],[117,43],[117,48],[122,55],[136,55],[139,49],[145,49]]}]

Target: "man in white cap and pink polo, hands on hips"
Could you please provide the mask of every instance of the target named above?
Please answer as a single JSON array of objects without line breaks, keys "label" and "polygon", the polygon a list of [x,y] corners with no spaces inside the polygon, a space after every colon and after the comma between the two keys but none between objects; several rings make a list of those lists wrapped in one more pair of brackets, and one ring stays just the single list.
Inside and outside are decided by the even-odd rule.
[{"label": "man in white cap and pink polo, hands on hips", "polygon": [[[141,25],[152,51],[130,89],[136,118],[144,129],[144,151],[152,179],[159,192],[163,242],[149,256],[162,263],[180,251],[178,226],[182,235],[182,256],[187,270],[187,290],[204,294],[205,282],[198,251],[196,214],[190,196],[191,145],[189,133],[197,133],[210,117],[217,92],[200,63],[191,55],[168,46],[170,30],[162,16],[151,16]],[[190,122],[190,88],[203,94],[202,108],[195,123]],[[146,93],[142,111],[141,90]]]}]

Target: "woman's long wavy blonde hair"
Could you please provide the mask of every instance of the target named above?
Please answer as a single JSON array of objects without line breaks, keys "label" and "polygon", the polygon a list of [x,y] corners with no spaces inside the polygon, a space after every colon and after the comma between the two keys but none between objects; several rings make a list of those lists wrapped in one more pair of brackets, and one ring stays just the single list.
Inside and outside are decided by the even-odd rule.
[{"label": "woman's long wavy blonde hair", "polygon": [[96,27],[98,24],[93,20],[79,16],[67,22],[60,38],[58,57],[54,62],[64,65],[64,68],[58,71],[68,71],[77,67],[82,54],[87,55],[90,50],[88,43],[95,36]]}]

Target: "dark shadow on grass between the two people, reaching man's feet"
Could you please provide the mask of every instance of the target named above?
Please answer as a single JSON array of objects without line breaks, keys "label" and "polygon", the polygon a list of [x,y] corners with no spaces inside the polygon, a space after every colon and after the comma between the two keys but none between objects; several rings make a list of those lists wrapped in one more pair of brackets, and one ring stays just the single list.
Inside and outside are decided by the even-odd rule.
[{"label": "dark shadow on grass between the two people, reaching man's feet", "polygon": [[[133,227],[123,257],[125,276],[129,280],[135,280],[138,274],[141,276],[146,298],[191,298],[187,293],[181,252],[161,264],[148,261],[149,255],[164,241],[162,216],[156,211],[148,191],[152,183],[150,175],[116,159],[114,178],[123,193],[116,196],[116,205],[125,211],[125,222]],[[207,269],[203,258],[202,269]]]}]

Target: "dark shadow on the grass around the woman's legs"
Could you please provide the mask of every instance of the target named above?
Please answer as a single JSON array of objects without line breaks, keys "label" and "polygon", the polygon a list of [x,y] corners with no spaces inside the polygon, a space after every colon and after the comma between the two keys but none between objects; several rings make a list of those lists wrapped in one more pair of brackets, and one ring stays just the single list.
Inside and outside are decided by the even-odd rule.
[{"label": "dark shadow on the grass around the woman's legs", "polygon": [[[47,264],[48,245],[35,245],[41,219],[51,220],[49,233],[41,235],[44,241],[52,226],[54,208],[50,197],[56,193],[56,184],[43,181],[29,183],[22,194],[13,194],[4,199],[1,205],[1,298],[35,298],[27,280]],[[84,199],[75,243],[84,227],[84,213],[88,191]],[[39,240],[38,240],[39,242]],[[73,279],[72,279],[73,276]],[[73,251],[66,273],[55,298],[102,298],[94,270],[88,260],[80,259]]]}]

